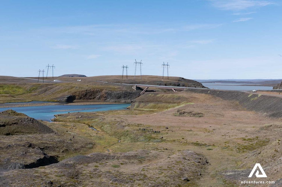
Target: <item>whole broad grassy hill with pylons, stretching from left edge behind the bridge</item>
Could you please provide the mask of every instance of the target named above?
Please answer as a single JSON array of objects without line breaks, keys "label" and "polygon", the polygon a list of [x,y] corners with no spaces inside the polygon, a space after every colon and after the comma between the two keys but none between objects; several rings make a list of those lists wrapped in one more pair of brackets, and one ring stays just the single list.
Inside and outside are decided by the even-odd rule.
[{"label": "whole broad grassy hill with pylons, stretching from left edge behind the bridge", "polygon": [[[197,81],[181,77],[169,77],[169,80],[162,81],[160,76],[128,76],[122,79],[121,76],[97,76],[97,77],[54,77],[37,83],[37,77],[9,77],[0,76],[0,103],[20,101],[55,101],[83,90],[103,89],[110,91],[134,91],[131,85],[127,84],[152,84],[167,86],[203,87]],[[126,83],[126,84],[121,84]],[[166,90],[158,90],[163,92]]]}]

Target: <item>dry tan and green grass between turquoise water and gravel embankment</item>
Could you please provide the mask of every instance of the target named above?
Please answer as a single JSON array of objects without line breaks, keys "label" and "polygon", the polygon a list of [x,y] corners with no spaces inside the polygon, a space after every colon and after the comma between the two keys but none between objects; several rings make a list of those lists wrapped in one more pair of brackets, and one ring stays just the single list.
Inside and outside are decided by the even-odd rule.
[{"label": "dry tan and green grass between turquoise water and gravel embankment", "polygon": [[[146,93],[136,100],[138,104],[136,108],[162,110],[161,112],[120,110],[70,113],[58,116],[56,122],[48,123],[48,126],[60,132],[62,136],[74,135],[95,142],[93,148],[83,150],[81,154],[146,149],[163,155],[156,156],[158,161],[173,157],[187,149],[205,155],[210,165],[200,177],[198,175],[201,178],[200,181],[191,182],[187,184],[188,186],[238,186],[238,181],[226,180],[221,173],[230,169],[250,169],[257,160],[276,169],[267,171],[269,180],[275,181],[281,176],[280,119],[270,119],[255,112],[246,111],[236,102],[223,101],[204,94],[187,92],[167,95],[149,94],[152,93]],[[163,103],[165,107],[156,105],[158,102]],[[204,116],[175,116],[178,110],[193,111],[192,113],[201,113]],[[90,130],[88,125],[98,129],[99,132]],[[72,153],[72,155],[76,154],[78,152]],[[66,154],[63,158],[72,155]],[[184,163],[183,160],[182,158],[172,164],[180,168]],[[149,166],[156,166],[156,162],[156,160],[149,162]],[[143,167],[145,163],[142,158],[131,164],[119,160],[114,163],[104,163],[98,168],[117,169],[128,173],[138,169],[139,173],[147,176],[142,177],[144,181],[151,180],[158,172],[160,172],[158,176],[167,179],[169,176],[164,174],[170,169],[181,173],[181,170],[176,168],[151,167],[147,169]],[[113,165],[120,167],[114,168]],[[96,168],[95,166],[98,164],[96,163],[91,168]],[[132,178],[134,177],[136,176]],[[138,184],[142,186],[143,183],[140,181]]]}]

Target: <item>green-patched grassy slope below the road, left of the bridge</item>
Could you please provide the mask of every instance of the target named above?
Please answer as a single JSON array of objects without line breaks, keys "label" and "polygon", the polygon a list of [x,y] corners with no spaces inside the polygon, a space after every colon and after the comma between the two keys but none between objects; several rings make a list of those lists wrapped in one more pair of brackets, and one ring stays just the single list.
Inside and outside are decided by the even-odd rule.
[{"label": "green-patched grassy slope below the road, left of the bridge", "polygon": [[[106,83],[0,83],[0,103],[54,101],[59,97],[88,89],[130,90],[130,86]],[[132,89],[133,90],[133,89]]]}]

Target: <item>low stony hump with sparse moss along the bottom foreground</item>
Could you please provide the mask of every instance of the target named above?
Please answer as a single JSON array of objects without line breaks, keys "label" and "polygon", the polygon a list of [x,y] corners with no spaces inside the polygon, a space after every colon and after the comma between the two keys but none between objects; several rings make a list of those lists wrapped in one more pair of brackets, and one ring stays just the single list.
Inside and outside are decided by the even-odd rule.
[{"label": "low stony hump with sparse moss along the bottom foreground", "polygon": [[[173,155],[160,150],[92,153],[65,159],[50,166],[6,171],[0,178],[0,184],[2,186],[9,184],[12,186],[187,186],[201,177],[202,169],[207,164],[205,157],[189,150]],[[29,179],[26,179],[25,175],[28,175]]]}]

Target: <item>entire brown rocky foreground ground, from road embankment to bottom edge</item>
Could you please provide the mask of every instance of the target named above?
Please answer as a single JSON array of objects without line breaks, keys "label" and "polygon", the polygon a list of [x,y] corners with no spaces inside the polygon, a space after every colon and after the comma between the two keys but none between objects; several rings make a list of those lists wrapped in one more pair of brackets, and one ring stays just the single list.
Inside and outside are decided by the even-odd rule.
[{"label": "entire brown rocky foreground ground, from road embankment to bottom edge", "polygon": [[256,163],[281,186],[281,119],[224,99],[148,92],[131,110],[40,121],[53,133],[1,135],[0,186],[246,186]]}]

